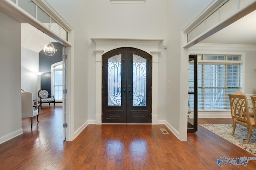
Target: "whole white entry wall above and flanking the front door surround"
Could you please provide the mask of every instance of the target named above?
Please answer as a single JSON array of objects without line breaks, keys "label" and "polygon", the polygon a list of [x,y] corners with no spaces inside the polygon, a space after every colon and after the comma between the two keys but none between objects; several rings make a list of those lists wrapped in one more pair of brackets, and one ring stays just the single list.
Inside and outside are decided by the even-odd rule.
[{"label": "whole white entry wall above and flanking the front door surround", "polygon": [[[147,0],[145,4],[111,4],[108,0],[89,0],[89,38],[165,39],[166,0]],[[89,63],[95,63],[96,49],[89,41]],[[165,41],[164,41],[165,42]],[[159,44],[158,119],[165,111],[165,60],[164,42]],[[108,51],[104,51],[106,53]],[[95,119],[95,64],[90,64],[89,119]]]}]

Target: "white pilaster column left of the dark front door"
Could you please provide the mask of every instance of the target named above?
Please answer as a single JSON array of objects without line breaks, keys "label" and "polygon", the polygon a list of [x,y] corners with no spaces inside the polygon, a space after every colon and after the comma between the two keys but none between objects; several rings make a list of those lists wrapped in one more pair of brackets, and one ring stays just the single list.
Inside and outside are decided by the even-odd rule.
[{"label": "white pilaster column left of the dark front door", "polygon": [[96,54],[95,56],[95,74],[96,74],[96,79],[95,79],[95,90],[96,90],[96,108],[95,108],[95,112],[96,112],[96,116],[95,116],[95,124],[96,125],[100,125],[102,123],[101,121],[101,86],[102,86],[102,73],[101,73],[101,67],[102,67],[102,53],[104,52],[104,50],[94,50],[94,53]]}]

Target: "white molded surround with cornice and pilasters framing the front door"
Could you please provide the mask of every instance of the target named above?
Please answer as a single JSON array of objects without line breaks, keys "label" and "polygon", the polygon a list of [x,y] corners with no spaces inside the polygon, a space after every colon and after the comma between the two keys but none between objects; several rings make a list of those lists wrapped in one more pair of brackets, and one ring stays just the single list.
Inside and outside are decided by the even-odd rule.
[{"label": "white molded surround with cornice and pilasters framing the front door", "polygon": [[95,123],[102,124],[102,55],[110,50],[120,47],[134,47],[152,55],[152,125],[158,124],[158,44],[164,39],[91,39],[96,43],[95,66]]}]

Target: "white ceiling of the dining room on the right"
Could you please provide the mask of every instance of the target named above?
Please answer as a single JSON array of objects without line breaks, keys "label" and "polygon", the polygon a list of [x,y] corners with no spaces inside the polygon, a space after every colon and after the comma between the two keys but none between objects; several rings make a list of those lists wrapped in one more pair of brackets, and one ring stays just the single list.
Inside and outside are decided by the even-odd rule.
[{"label": "white ceiling of the dining room on the right", "polygon": [[256,10],[200,43],[256,45]]}]

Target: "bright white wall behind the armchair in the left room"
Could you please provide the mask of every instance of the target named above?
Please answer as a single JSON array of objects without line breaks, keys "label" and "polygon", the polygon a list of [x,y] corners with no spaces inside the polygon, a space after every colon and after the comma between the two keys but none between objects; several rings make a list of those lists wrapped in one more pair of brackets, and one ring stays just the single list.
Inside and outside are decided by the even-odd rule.
[{"label": "bright white wall behind the armchair in the left room", "polygon": [[21,47],[21,88],[37,98],[38,53]]}]

